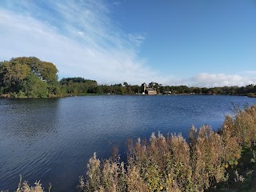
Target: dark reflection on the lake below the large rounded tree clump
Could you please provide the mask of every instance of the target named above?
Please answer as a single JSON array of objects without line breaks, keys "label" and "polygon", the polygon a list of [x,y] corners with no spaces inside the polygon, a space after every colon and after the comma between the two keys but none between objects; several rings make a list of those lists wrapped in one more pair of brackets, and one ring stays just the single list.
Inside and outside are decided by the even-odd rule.
[{"label": "dark reflection on the lake below the large rounded tree clump", "polygon": [[37,138],[43,133],[56,131],[58,121],[58,99],[5,99],[1,102],[4,113],[1,122],[5,125],[0,133],[16,139]]}]

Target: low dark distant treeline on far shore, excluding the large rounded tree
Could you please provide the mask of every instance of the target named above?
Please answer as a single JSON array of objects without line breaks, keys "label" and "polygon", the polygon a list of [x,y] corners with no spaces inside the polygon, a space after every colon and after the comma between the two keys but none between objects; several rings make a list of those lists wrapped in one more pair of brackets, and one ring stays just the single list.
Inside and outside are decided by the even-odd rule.
[{"label": "low dark distant treeline on far shore, excluding the large rounded tree", "polygon": [[[63,78],[60,82],[62,90],[67,94],[142,94],[142,88],[138,85],[128,85],[126,82],[114,85],[97,85],[94,80],[86,82],[66,81]],[[80,79],[80,78],[79,78]],[[83,79],[83,78],[82,78]],[[63,84],[62,81],[66,82]],[[150,84],[149,84],[150,85]],[[188,87],[188,86],[149,86],[157,90],[158,94],[229,94],[248,95],[256,93],[256,86],[223,86],[223,87]]]}]

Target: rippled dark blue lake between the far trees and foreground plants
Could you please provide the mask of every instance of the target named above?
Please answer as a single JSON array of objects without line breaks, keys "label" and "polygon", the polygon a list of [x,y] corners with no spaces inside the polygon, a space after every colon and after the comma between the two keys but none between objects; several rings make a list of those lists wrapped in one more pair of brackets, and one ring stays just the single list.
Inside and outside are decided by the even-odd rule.
[{"label": "rippled dark blue lake between the far trees and foreground plants", "polygon": [[238,96],[86,96],[0,99],[0,190],[17,189],[19,174],[51,191],[76,191],[79,175],[97,153],[108,158],[128,138],[182,133],[192,125],[217,130],[235,105],[256,98]]}]

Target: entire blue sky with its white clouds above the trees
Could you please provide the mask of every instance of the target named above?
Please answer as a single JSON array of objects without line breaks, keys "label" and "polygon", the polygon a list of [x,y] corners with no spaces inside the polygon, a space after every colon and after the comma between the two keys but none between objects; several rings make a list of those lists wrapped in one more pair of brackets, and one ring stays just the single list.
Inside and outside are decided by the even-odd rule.
[{"label": "entire blue sky with its white clouds above the trees", "polygon": [[255,0],[0,0],[0,61],[101,84],[256,84]]}]

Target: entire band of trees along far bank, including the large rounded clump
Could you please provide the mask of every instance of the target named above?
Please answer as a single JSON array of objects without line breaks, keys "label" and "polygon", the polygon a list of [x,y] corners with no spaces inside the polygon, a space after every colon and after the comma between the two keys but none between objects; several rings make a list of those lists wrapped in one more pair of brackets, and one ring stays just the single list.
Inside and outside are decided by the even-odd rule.
[{"label": "entire band of trees along far bank, including the large rounded clump", "polygon": [[[56,98],[67,94],[142,94],[138,85],[127,82],[114,85],[98,85],[84,78],[62,78],[58,81],[58,69],[51,62],[34,57],[11,58],[0,62],[0,97],[5,98]],[[158,94],[231,94],[256,97],[256,86],[188,87],[162,86],[150,82],[150,88]]]}]

